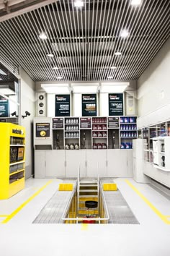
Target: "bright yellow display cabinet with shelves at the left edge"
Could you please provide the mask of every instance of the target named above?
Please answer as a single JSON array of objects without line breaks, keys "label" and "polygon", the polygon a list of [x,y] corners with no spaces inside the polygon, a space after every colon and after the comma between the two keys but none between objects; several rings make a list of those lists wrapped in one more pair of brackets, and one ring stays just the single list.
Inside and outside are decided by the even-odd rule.
[{"label": "bright yellow display cabinet with shelves at the left edge", "polygon": [[25,129],[0,123],[0,200],[24,188]]}]

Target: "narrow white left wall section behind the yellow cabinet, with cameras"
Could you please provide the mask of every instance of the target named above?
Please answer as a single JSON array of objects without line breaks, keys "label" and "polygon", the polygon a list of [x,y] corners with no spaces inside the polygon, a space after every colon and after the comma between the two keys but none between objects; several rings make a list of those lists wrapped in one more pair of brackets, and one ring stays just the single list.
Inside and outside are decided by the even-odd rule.
[{"label": "narrow white left wall section behind the yellow cabinet, with cameras", "polygon": [[30,112],[30,116],[21,119],[21,125],[26,129],[26,155],[25,155],[25,177],[29,178],[33,173],[33,126],[32,120],[35,116],[35,82],[24,72],[19,70],[21,85],[21,114]]}]

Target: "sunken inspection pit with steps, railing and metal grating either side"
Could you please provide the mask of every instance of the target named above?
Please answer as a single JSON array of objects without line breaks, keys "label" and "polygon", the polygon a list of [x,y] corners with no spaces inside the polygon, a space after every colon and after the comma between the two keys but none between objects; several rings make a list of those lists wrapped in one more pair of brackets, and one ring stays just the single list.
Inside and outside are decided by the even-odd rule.
[{"label": "sunken inspection pit with steps, railing and metal grating either side", "polygon": [[69,180],[73,190],[56,191],[33,223],[139,224],[119,189],[103,190],[106,182],[113,179]]}]

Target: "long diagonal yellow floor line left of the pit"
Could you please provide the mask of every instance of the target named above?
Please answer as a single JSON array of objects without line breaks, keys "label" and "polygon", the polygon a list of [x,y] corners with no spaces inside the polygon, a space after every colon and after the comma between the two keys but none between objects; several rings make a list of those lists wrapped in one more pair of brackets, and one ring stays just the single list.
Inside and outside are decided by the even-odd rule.
[{"label": "long diagonal yellow floor line left of the pit", "polygon": [[51,182],[53,182],[52,180],[50,180],[49,182],[47,182],[43,187],[41,187],[37,192],[35,192],[34,195],[32,195],[30,198],[28,198],[25,202],[22,203],[22,205],[20,205],[16,210],[14,210],[9,216],[7,216],[4,221],[2,221],[1,223],[7,223],[9,222],[14,216],[17,215],[17,213],[19,213],[20,210],[22,210],[22,208],[24,208],[25,205],[28,204],[28,202],[30,202],[32,199],[34,199],[37,195],[40,194],[40,192],[42,192],[43,189],[45,189],[45,187],[47,187]]}]

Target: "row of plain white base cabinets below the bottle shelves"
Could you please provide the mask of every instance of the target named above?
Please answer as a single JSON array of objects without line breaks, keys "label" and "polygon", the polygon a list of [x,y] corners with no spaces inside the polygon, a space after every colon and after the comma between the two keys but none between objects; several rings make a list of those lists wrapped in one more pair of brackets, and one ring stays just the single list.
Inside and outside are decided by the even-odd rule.
[{"label": "row of plain white base cabinets below the bottle shelves", "polygon": [[35,178],[133,177],[132,150],[35,150]]}]

